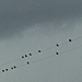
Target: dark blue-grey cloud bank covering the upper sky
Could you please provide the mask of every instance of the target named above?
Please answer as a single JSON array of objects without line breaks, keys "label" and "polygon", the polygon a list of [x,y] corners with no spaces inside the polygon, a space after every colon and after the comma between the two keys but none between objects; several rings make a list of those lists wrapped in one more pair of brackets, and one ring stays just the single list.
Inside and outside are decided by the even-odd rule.
[{"label": "dark blue-grey cloud bank covering the upper sky", "polygon": [[82,0],[2,0],[0,39],[17,35],[34,24],[52,21],[59,24],[62,20],[73,22],[81,16]]}]

